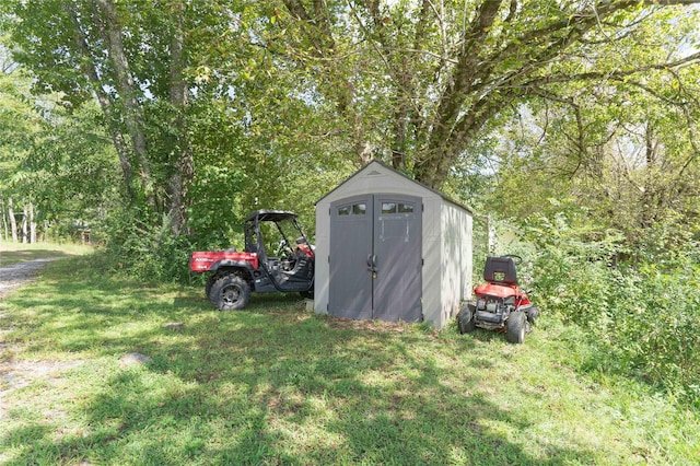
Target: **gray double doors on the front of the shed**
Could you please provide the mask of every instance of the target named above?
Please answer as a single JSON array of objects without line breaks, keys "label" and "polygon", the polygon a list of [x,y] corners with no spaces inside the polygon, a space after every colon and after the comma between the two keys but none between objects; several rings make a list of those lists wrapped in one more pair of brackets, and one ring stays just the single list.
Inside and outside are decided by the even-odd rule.
[{"label": "gray double doors on the front of the shed", "polygon": [[421,199],[366,195],[330,205],[328,313],[421,319]]}]

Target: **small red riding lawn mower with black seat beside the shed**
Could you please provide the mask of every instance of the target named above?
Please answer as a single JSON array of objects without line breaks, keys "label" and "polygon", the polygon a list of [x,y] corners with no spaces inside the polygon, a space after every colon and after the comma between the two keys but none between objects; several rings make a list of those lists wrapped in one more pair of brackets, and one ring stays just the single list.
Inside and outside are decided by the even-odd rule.
[{"label": "small red riding lawn mower with black seat beside the shed", "polygon": [[517,288],[515,266],[523,258],[514,254],[487,257],[483,280],[474,288],[476,304],[469,303],[457,314],[460,334],[474,331],[476,327],[504,331],[512,343],[525,341],[539,310],[529,302],[527,294]]}]

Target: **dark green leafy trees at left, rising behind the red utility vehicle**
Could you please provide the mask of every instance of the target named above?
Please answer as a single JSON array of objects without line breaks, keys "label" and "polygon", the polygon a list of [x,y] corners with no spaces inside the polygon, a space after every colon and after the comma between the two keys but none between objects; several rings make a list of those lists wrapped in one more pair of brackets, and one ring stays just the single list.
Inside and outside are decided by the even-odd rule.
[{"label": "dark green leafy trees at left, rising behind the red utility vehicle", "polygon": [[141,217],[166,214],[177,235],[190,223],[211,228],[205,209],[221,218],[241,201],[243,209],[278,202],[300,166],[338,163],[323,135],[307,130],[323,114],[261,47],[266,7],[49,0],[0,8],[15,59],[36,77],[34,92],[55,93],[72,112],[96,101],[126,206]]}]

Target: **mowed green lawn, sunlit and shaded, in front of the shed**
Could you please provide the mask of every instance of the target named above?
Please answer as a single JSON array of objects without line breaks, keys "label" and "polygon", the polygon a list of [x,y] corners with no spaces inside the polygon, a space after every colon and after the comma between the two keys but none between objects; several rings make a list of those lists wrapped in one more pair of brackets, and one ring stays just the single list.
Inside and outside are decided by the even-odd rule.
[{"label": "mowed green lawn, sunlit and shaded, in front of the shed", "polygon": [[[294,295],[221,313],[200,287],[47,266],[0,302],[0,463],[696,464],[700,417],[583,374],[544,315],[524,346],[317,317]],[[182,328],[166,328],[167,323]],[[152,360],[125,364],[139,352]]]}]

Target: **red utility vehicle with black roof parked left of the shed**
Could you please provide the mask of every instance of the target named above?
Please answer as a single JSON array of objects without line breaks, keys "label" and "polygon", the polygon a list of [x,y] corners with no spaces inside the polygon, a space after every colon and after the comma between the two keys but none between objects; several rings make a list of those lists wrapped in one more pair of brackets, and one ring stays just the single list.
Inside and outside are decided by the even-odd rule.
[{"label": "red utility vehicle with black roof parked left of the shed", "polygon": [[221,311],[242,310],[252,292],[314,292],[314,248],[296,214],[256,210],[245,220],[245,251],[195,252],[189,269],[210,273],[206,293]]}]

